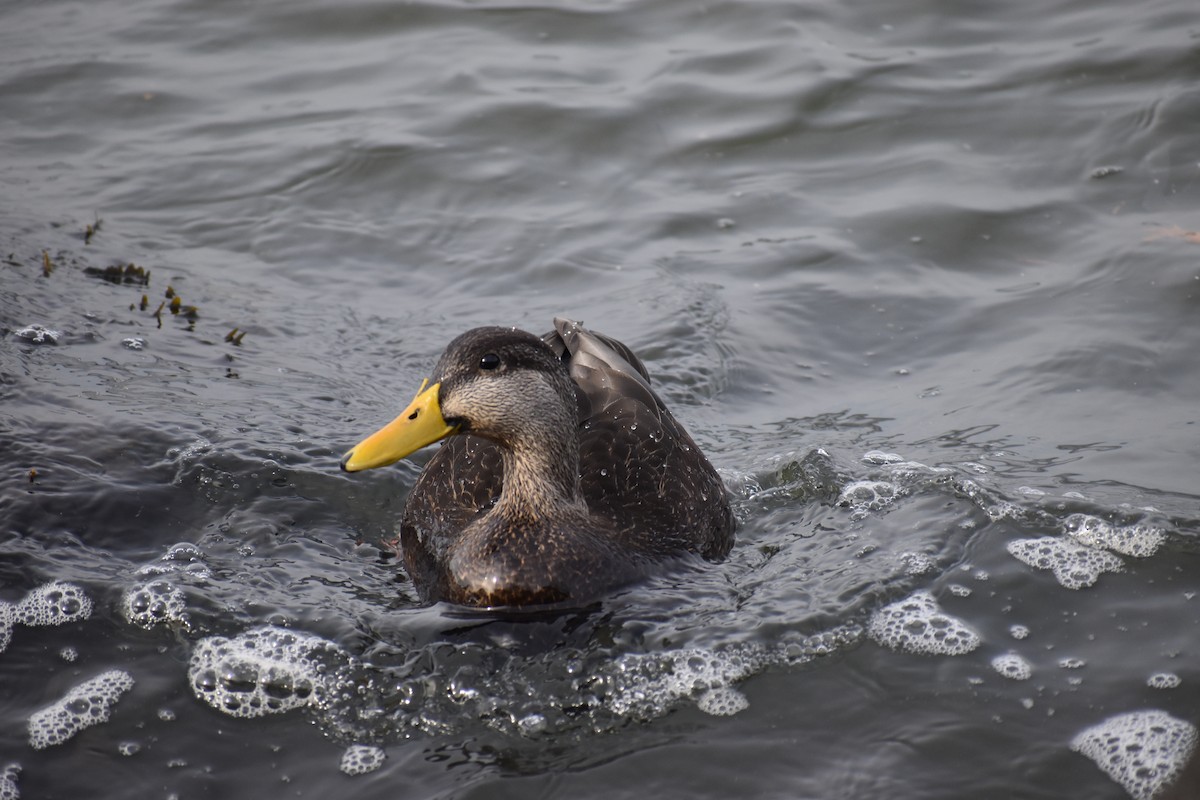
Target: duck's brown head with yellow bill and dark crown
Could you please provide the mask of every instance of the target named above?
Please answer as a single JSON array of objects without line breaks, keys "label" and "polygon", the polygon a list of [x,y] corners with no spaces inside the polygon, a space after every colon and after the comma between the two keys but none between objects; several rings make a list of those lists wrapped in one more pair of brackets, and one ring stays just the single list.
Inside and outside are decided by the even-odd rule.
[{"label": "duck's brown head with yellow bill and dark crown", "polygon": [[514,327],[476,327],[454,339],[416,397],[342,457],[356,473],[386,467],[455,433],[508,447],[574,435],[575,385],[540,338]]}]

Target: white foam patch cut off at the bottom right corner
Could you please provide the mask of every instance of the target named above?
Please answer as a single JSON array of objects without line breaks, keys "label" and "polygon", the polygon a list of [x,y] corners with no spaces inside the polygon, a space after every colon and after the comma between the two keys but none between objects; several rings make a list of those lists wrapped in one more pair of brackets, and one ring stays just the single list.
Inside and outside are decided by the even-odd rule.
[{"label": "white foam patch cut off at the bottom right corner", "polygon": [[1076,735],[1070,748],[1124,787],[1134,800],[1151,800],[1171,783],[1195,750],[1196,728],[1165,711],[1109,717]]}]

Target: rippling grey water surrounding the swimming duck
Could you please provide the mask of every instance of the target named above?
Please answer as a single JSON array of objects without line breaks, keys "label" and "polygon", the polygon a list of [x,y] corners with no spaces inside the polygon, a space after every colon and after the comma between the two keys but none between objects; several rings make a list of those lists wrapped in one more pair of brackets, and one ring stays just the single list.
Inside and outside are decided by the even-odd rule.
[{"label": "rippling grey water surrounding the swimming duck", "polygon": [[[1200,721],[1198,40],[1177,0],[5,5],[0,796],[1144,796],[1088,748]],[[427,456],[337,458],[554,314],[643,356],[738,543],[422,608],[380,542]]]}]

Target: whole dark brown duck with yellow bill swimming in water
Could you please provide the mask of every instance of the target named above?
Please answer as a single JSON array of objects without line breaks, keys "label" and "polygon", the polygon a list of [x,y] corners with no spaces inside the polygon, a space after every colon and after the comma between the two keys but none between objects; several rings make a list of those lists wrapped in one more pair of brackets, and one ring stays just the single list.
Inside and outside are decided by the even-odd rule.
[{"label": "whole dark brown duck with yellow bill swimming in water", "polygon": [[641,359],[581,323],[553,325],[460,335],[413,402],[341,461],[377,469],[445,440],[400,523],[428,602],[586,607],[733,545],[728,492]]}]

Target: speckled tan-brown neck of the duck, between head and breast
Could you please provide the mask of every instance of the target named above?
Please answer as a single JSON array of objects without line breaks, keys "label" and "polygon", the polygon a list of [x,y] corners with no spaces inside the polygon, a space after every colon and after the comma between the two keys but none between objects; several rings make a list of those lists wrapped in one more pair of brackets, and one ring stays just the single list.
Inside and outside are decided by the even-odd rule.
[{"label": "speckled tan-brown neck of the duck, between head and breast", "polygon": [[502,447],[504,488],[496,504],[497,513],[538,522],[587,512],[580,492],[580,445],[575,431],[556,433],[559,435]]}]

